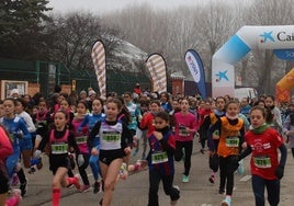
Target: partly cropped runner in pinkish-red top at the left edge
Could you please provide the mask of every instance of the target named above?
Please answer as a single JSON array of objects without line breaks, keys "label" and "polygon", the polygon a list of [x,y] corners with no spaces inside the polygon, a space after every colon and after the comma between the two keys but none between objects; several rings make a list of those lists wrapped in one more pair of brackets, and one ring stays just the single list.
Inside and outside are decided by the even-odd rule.
[{"label": "partly cropped runner in pinkish-red top at the left edge", "polygon": [[14,190],[8,198],[9,175],[5,167],[7,158],[13,153],[11,141],[5,130],[0,126],[0,205],[15,206],[21,202],[21,192]]}]

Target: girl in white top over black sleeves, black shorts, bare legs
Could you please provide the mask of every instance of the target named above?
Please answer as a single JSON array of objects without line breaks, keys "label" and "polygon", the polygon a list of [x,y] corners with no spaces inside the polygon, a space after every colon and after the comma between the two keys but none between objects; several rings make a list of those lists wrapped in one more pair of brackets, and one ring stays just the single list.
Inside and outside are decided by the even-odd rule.
[{"label": "girl in white top over black sleeves, black shorts, bare legs", "polygon": [[89,136],[89,148],[92,149],[94,138],[97,136],[100,138],[99,160],[104,183],[103,206],[111,205],[123,157],[131,153],[133,144],[127,125],[117,119],[121,110],[122,102],[118,99],[110,99],[106,102],[105,119],[97,122]]}]

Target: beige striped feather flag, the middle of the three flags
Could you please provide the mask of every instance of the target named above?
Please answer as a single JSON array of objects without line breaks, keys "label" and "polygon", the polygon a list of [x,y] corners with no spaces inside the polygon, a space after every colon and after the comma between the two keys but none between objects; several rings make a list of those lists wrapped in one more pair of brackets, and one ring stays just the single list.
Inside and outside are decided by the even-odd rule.
[{"label": "beige striped feather flag, the middle of the three flags", "polygon": [[167,67],[163,57],[159,54],[151,54],[146,60],[146,67],[151,76],[154,92],[167,91]]}]

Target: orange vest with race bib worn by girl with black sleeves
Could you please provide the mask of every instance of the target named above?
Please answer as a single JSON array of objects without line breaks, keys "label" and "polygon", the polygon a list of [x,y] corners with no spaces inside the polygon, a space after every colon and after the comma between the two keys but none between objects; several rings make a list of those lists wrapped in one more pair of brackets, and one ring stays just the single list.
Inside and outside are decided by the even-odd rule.
[{"label": "orange vest with race bib worn by girl with black sleeves", "polygon": [[236,125],[230,125],[226,116],[220,117],[220,137],[217,147],[217,154],[220,157],[228,157],[239,153],[240,146],[240,130],[244,127],[244,121],[238,118]]}]

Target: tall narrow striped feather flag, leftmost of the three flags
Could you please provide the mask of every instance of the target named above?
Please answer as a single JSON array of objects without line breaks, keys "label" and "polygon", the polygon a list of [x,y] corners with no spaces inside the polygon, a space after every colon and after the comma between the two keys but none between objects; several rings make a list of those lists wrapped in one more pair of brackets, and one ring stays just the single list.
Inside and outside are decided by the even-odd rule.
[{"label": "tall narrow striped feather flag, leftmost of the three flags", "polygon": [[106,96],[105,49],[101,41],[95,42],[91,57],[94,64],[100,95]]}]

